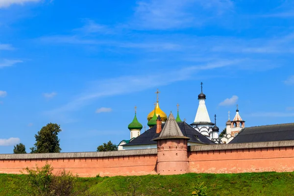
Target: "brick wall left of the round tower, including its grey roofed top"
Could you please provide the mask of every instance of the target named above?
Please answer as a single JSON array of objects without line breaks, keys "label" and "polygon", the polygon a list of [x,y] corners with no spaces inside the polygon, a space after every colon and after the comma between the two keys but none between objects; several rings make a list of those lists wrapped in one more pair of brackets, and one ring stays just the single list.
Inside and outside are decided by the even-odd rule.
[{"label": "brick wall left of the round tower, including its grey roofed top", "polygon": [[48,162],[55,171],[66,169],[80,177],[156,174],[157,149],[111,152],[0,154],[0,173],[20,174],[26,167]]}]

